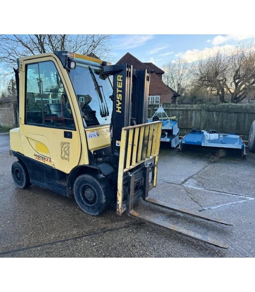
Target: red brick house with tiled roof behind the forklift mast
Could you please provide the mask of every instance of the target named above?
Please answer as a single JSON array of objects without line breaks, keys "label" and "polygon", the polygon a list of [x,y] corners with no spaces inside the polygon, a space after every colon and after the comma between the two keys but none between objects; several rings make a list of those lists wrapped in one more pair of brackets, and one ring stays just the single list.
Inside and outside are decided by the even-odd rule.
[{"label": "red brick house with tiled roof behind the forklift mast", "polygon": [[162,81],[162,75],[165,72],[153,63],[143,63],[130,53],[126,53],[117,63],[129,63],[135,69],[150,70],[149,104],[177,103],[177,97],[180,94]]}]

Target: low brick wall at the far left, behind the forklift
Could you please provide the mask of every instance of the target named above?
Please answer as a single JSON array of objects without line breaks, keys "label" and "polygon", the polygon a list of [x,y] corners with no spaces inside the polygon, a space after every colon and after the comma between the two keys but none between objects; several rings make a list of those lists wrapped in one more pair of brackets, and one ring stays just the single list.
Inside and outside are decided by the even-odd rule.
[{"label": "low brick wall at the far left, behind the forklift", "polygon": [[17,126],[17,102],[0,105],[0,125],[15,128]]}]

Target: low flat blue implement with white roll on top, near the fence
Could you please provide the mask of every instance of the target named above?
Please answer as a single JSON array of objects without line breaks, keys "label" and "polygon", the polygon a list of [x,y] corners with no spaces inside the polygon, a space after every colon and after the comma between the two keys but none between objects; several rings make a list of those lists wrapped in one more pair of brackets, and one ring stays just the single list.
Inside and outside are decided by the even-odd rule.
[{"label": "low flat blue implement with white roll on top, near the fence", "polygon": [[180,151],[184,145],[239,149],[242,156],[247,155],[244,141],[234,133],[193,129],[181,139]]}]

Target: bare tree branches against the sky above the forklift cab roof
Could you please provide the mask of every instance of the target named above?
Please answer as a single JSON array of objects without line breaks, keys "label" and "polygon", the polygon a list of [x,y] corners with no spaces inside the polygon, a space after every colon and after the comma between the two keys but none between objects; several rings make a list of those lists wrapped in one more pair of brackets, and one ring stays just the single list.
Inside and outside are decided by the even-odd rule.
[{"label": "bare tree branches against the sky above the forklift cab roof", "polygon": [[2,34],[0,35],[0,62],[9,69],[17,58],[52,51],[71,51],[99,58],[109,57],[112,50],[109,34]]}]

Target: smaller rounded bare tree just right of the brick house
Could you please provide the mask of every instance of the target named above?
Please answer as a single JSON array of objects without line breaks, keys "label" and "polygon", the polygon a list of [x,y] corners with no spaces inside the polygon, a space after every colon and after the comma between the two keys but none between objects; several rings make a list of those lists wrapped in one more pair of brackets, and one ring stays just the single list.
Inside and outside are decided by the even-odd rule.
[{"label": "smaller rounded bare tree just right of the brick house", "polygon": [[163,65],[163,82],[182,95],[189,86],[189,63],[183,58],[177,58]]}]

